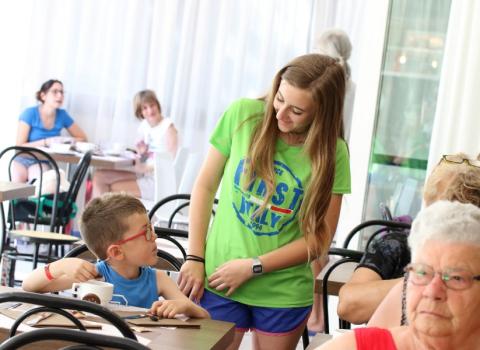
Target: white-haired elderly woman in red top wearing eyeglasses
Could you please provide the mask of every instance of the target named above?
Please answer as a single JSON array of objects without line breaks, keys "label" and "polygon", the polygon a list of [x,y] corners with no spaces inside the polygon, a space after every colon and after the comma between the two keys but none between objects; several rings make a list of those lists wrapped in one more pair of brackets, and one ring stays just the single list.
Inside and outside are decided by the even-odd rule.
[{"label": "white-haired elderly woman in red top wearing eyeglasses", "polygon": [[422,210],[409,236],[409,325],[356,328],[319,349],[478,349],[480,209],[440,201]]}]

